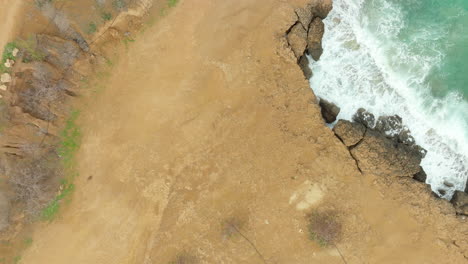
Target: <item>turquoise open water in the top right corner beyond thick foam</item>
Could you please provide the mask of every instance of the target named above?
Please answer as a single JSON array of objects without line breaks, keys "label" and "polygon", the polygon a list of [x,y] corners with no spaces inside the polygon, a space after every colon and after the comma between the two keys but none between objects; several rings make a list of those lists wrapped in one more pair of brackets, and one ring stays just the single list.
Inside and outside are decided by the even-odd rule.
[{"label": "turquoise open water in the top right corner beyond thick foam", "polygon": [[[433,63],[424,82],[432,94],[456,92],[468,100],[468,0],[370,0],[363,2],[362,10],[370,33],[408,45],[407,60],[398,56],[398,49],[389,48],[395,55],[392,67],[411,71],[420,63]],[[401,24],[383,28],[395,14]]]}]

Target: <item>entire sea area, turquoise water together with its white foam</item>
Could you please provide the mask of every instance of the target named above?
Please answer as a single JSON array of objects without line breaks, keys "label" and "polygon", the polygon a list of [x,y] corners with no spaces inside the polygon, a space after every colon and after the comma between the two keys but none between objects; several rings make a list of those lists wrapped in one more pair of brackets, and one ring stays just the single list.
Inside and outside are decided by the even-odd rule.
[{"label": "entire sea area, turquoise water together with its white foam", "polygon": [[[468,0],[334,0],[311,87],[351,119],[399,115],[428,153],[432,189],[468,177]],[[453,187],[447,187],[444,182]]]}]

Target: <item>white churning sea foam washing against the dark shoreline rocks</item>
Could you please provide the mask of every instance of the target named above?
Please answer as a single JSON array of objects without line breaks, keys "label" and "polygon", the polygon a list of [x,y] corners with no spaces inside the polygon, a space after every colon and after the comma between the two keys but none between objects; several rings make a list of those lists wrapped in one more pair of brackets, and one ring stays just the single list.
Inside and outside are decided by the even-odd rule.
[{"label": "white churning sea foam washing against the dark shoreline rocks", "polygon": [[[396,43],[393,37],[405,26],[402,10],[380,0],[364,14],[369,8],[364,1],[334,1],[325,20],[324,53],[318,62],[309,58],[311,87],[341,107],[340,119],[351,119],[360,107],[376,116],[401,116],[416,143],[428,151],[422,161],[427,183],[434,191],[446,190],[449,199],[454,189],[464,189],[468,177],[468,103],[455,93],[432,96],[425,81],[444,60],[437,46],[424,47],[424,55],[412,52],[420,38],[436,43],[444,28],[421,30],[409,43]],[[372,14],[385,17],[375,23]]]}]

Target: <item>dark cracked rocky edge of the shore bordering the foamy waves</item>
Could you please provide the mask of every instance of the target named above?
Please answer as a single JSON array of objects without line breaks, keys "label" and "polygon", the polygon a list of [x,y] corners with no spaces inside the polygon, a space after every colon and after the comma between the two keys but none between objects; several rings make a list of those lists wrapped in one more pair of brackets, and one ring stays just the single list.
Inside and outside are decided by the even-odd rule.
[{"label": "dark cracked rocky edge of the shore bordering the foamy waves", "polygon": [[[325,26],[322,20],[331,9],[331,1],[313,1],[305,8],[297,9],[297,21],[286,32],[287,43],[307,80],[313,76],[309,59],[317,61],[323,52]],[[400,116],[376,118],[360,108],[352,121],[336,121],[339,106],[324,98],[319,98],[318,104],[325,123],[334,125],[333,132],[348,148],[362,173],[389,181],[397,177],[409,177],[423,183],[420,188],[432,192],[430,186],[425,184],[426,173],[420,165],[427,151],[416,144]],[[450,182],[444,182],[444,185],[446,188],[453,187]],[[441,188],[432,193],[436,197],[443,197],[446,192],[447,189]],[[457,215],[468,216],[468,183],[464,191],[455,190],[450,202]]]}]

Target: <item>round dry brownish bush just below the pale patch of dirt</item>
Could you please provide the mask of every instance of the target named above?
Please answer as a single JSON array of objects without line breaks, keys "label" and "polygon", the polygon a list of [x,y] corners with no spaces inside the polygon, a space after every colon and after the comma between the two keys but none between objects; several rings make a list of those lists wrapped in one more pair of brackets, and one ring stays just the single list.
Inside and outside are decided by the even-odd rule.
[{"label": "round dry brownish bush just below the pale patch of dirt", "polygon": [[309,215],[310,239],[321,246],[334,245],[341,238],[341,224],[333,211],[314,212]]}]

